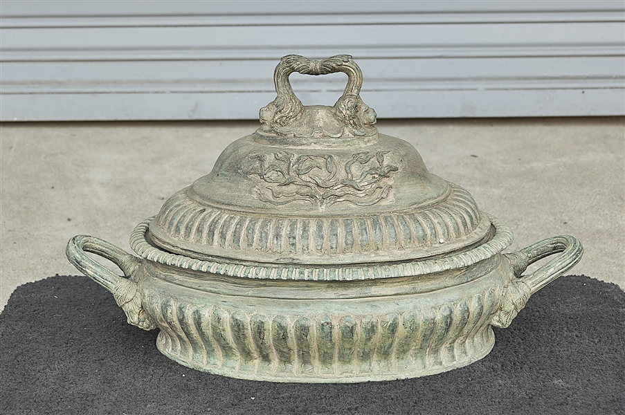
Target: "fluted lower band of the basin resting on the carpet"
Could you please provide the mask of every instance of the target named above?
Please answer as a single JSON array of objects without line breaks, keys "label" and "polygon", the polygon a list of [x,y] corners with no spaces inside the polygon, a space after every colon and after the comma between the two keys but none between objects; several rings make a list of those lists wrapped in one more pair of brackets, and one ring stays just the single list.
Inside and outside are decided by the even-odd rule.
[{"label": "fluted lower band of the basin resting on the carpet", "polygon": [[[483,284],[483,283],[482,283]],[[497,288],[462,293],[455,301],[383,299],[351,313],[301,309],[249,312],[150,295],[161,352],[183,365],[237,378],[282,382],[359,382],[435,374],[485,356],[494,335],[487,324]],[[465,297],[466,296],[466,297]],[[217,302],[215,302],[217,304]],[[382,310],[375,312],[374,308]]]}]

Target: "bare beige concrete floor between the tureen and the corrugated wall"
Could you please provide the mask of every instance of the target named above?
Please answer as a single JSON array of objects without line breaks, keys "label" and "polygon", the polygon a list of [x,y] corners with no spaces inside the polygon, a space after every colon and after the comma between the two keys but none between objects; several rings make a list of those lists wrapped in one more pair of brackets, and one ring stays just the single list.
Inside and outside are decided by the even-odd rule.
[{"label": "bare beige concrete floor between the tureen and the corrugated wall", "polygon": [[[0,124],[0,309],[26,282],[76,275],[75,234],[129,250],[134,226],[208,173],[257,122]],[[570,273],[625,288],[625,118],[382,120],[431,172],[465,187],[515,234],[585,248]],[[114,269],[112,264],[111,269]]]}]

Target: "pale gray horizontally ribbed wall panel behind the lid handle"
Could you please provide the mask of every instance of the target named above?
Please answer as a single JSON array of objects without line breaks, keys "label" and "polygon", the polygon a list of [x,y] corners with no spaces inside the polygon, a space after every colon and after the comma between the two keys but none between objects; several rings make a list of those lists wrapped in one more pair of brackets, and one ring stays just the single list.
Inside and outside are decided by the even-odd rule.
[{"label": "pale gray horizontally ribbed wall panel behind the lid handle", "polygon": [[[380,118],[625,115],[624,1],[0,2],[0,120],[254,119],[349,53]],[[343,74],[291,76],[334,104]]]}]

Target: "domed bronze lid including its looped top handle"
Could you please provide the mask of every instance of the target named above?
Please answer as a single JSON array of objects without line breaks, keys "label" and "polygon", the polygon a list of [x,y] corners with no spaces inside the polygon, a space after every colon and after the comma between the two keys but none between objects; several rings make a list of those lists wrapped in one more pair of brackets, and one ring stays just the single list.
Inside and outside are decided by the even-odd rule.
[{"label": "domed bronze lid including its looped top handle", "polygon": [[[303,106],[289,84],[293,72],[339,71],[349,80],[333,107]],[[165,202],[151,243],[217,263],[332,268],[436,257],[489,238],[489,217],[466,190],[428,172],[408,142],[378,133],[351,56],[289,55],[274,80],[262,127]]]}]

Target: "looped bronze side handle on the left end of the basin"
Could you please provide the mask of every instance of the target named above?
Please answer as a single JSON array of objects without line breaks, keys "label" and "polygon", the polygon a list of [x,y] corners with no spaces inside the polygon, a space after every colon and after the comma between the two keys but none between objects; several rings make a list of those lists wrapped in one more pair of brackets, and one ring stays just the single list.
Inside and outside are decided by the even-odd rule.
[{"label": "looped bronze side handle on the left end of the basin", "polygon": [[[102,264],[98,264],[86,252],[113,261],[123,271],[125,277],[120,277]],[[136,282],[132,281],[134,274],[141,266],[141,259],[130,255],[112,243],[87,235],[77,235],[70,239],[65,255],[80,272],[113,293],[118,306],[126,314],[129,324],[138,326],[143,330],[156,329],[156,324],[143,311],[141,293]]]}]

